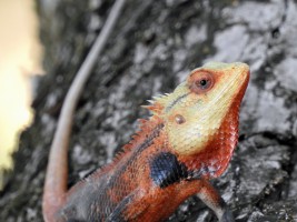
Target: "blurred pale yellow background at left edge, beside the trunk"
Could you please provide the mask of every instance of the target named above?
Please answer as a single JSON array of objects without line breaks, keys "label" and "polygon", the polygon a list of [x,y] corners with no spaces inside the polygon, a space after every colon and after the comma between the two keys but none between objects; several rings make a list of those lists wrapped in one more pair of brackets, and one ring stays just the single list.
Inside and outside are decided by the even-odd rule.
[{"label": "blurred pale yellow background at left edge, beside the trunk", "polygon": [[[0,170],[10,169],[10,153],[20,130],[30,124],[32,77],[42,73],[41,47],[33,0],[0,1]],[[1,178],[1,176],[0,176]]]}]

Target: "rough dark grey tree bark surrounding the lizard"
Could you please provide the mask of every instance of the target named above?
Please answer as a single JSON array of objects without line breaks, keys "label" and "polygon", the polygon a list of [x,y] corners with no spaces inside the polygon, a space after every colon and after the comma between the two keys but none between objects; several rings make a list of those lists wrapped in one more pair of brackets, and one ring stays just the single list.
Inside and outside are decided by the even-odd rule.
[{"label": "rough dark grey tree bark surrounding the lizard", "polygon": [[[0,221],[42,221],[48,151],[71,80],[113,1],[38,1],[44,69],[16,168],[0,193]],[[237,221],[297,221],[297,1],[128,0],[75,117],[69,185],[110,161],[148,113],[139,105],[170,92],[206,61],[244,61],[251,79],[240,142],[214,181]],[[216,109],[216,108],[214,108]],[[197,220],[198,218],[198,220]],[[169,221],[216,221],[198,199]]]}]

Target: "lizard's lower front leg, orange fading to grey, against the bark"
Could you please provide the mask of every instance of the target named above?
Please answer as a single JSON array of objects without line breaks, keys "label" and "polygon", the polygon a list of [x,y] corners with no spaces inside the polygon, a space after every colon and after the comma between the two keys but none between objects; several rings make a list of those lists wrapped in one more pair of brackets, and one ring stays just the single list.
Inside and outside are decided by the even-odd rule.
[{"label": "lizard's lower front leg, orange fading to grey, against the bark", "polygon": [[201,181],[201,189],[197,193],[197,196],[216,213],[219,222],[235,221],[226,202],[208,181]]}]

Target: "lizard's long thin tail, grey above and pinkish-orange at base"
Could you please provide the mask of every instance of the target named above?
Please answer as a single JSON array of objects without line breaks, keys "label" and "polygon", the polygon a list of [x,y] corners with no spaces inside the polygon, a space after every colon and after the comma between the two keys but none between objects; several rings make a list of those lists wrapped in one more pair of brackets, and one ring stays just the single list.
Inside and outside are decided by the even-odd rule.
[{"label": "lizard's long thin tail, grey above and pinkish-orange at base", "polygon": [[96,39],[90,52],[76,74],[73,82],[66,95],[57,130],[50,148],[48,169],[42,199],[42,213],[46,222],[55,222],[55,214],[63,205],[68,182],[68,145],[71,134],[72,117],[79,95],[98,60],[107,40],[116,24],[126,0],[117,0],[107,18],[106,24]]}]

